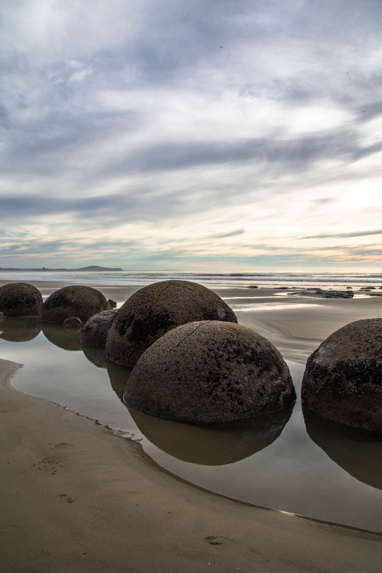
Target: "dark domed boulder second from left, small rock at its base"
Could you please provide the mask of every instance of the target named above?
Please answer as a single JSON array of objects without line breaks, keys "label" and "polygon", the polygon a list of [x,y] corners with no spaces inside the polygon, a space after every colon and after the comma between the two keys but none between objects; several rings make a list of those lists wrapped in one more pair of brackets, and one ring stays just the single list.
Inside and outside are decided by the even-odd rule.
[{"label": "dark domed boulder second from left, small rock at its base", "polygon": [[42,322],[63,323],[68,316],[76,316],[83,323],[107,309],[107,301],[100,291],[91,286],[64,286],[54,291],[42,305]]}]

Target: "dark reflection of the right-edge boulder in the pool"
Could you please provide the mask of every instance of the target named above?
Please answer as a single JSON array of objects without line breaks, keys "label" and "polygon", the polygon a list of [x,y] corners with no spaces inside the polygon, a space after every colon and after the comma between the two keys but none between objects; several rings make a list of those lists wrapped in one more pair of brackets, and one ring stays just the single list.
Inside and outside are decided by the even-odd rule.
[{"label": "dark reflection of the right-edge boulder in the pool", "polygon": [[382,437],[352,430],[314,414],[302,404],[309,437],[329,458],[351,476],[373,488],[382,489]]}]

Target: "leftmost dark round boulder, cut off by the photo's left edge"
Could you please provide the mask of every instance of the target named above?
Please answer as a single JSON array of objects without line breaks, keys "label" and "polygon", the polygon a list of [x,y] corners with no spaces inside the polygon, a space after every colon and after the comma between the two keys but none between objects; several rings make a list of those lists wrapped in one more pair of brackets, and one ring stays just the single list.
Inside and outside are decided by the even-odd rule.
[{"label": "leftmost dark round boulder, cut off by the photo's left edge", "polygon": [[28,282],[10,282],[0,286],[0,311],[4,316],[38,316],[42,295]]}]

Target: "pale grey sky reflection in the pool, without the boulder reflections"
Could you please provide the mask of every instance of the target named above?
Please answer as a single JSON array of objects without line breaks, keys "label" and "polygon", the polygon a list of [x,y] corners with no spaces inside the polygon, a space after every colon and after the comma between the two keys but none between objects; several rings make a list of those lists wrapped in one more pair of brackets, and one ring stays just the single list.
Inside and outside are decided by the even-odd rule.
[{"label": "pale grey sky reflection in the pool, without the boulder reflections", "polygon": [[[62,350],[60,337],[57,340],[61,342],[56,346],[54,332],[49,336],[52,342],[42,332],[29,342],[14,343],[0,338],[1,358],[25,366],[14,378],[19,390],[66,405],[113,429],[134,434],[135,439],[142,438],[145,451],[155,461],[204,488],[265,507],[382,532],[382,490],[357,480],[337,465],[324,451],[327,439],[324,434],[321,447],[314,443],[306,432],[299,401],[281,434],[264,449],[226,465],[182,461],[157,448],[137,429],[116,394],[123,391],[123,370],[115,371],[115,365],[109,365],[112,387],[103,351],[92,349],[86,358],[81,350]],[[294,362],[288,365],[299,394],[304,366]],[[161,431],[166,430],[167,424],[172,433],[178,427],[176,422],[160,423]],[[179,435],[186,442],[184,437],[188,430],[192,435],[193,427],[181,426]],[[187,444],[183,446],[183,457],[187,459]],[[339,451],[341,447],[340,444]],[[343,447],[348,445],[344,442]],[[336,451],[333,445],[326,449],[332,456]],[[375,441],[375,456],[382,456],[382,440]],[[357,464],[357,460],[352,463]],[[360,463],[364,465],[361,458]]]}]

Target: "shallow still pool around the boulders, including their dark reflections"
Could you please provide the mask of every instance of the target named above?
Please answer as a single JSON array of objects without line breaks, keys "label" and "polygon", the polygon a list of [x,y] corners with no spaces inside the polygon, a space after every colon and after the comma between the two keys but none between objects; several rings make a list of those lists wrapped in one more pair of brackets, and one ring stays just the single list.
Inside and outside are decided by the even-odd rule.
[{"label": "shallow still pool around the boulders, including their dark reflections", "polygon": [[[382,439],[355,433],[301,410],[229,429],[151,417],[121,401],[129,371],[80,333],[34,319],[0,323],[0,356],[22,363],[18,390],[141,439],[171,472],[206,489],[285,512],[382,532]],[[304,366],[288,362],[297,394]]]}]

